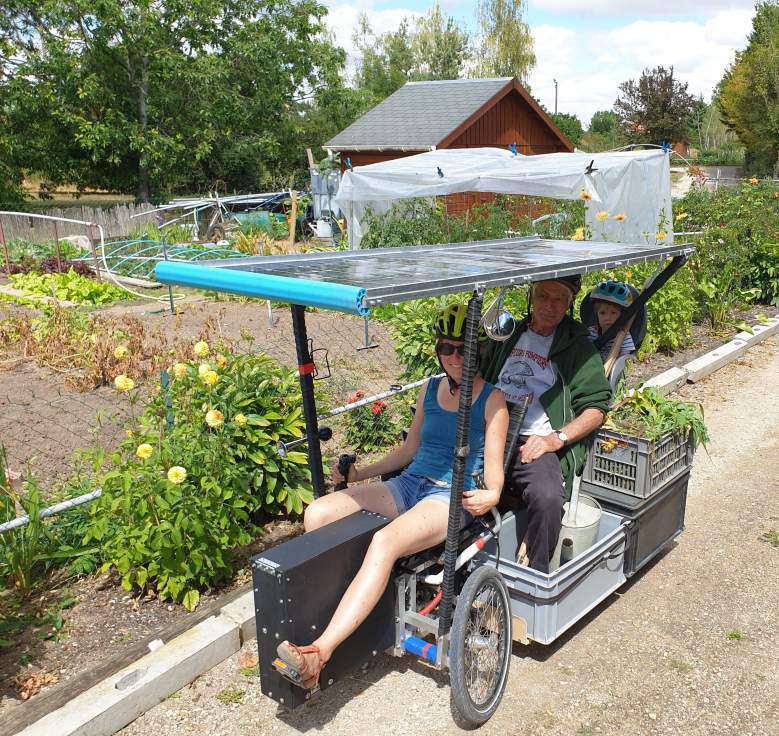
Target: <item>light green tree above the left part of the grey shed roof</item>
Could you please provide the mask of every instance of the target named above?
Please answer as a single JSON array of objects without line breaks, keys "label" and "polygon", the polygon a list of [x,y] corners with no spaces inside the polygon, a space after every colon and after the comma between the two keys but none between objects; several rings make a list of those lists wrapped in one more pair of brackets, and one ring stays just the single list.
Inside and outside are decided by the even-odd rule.
[{"label": "light green tree above the left part of the grey shed roof", "polygon": [[354,35],[361,54],[356,86],[374,105],[406,82],[457,79],[469,59],[469,36],[436,4],[421,20],[404,18],[396,31],[376,36],[363,13]]}]

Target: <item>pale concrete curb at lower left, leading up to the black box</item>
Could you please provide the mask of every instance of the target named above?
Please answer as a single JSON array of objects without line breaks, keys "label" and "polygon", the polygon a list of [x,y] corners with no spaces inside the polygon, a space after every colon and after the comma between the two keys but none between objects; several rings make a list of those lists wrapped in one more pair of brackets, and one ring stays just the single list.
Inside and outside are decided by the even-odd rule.
[{"label": "pale concrete curb at lower left, leading up to the black box", "polygon": [[256,637],[248,591],[167,644],[85,690],[20,736],[109,736]]}]

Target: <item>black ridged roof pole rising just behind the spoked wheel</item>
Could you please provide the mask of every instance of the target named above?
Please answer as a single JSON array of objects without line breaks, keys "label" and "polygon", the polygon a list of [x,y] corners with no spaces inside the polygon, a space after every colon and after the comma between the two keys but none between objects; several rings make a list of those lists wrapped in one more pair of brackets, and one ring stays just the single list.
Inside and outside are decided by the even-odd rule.
[{"label": "black ridged roof pole rising just behind the spoked wheel", "polygon": [[460,517],[463,508],[463,485],[465,483],[465,461],[470,448],[468,436],[471,424],[471,399],[473,378],[477,370],[479,344],[477,340],[481,321],[482,295],[475,293],[468,302],[468,319],[465,323],[465,355],[463,376],[460,383],[460,406],[457,410],[457,429],[454,440],[454,463],[452,465],[452,495],[449,500],[449,525],[444,546],[444,580],[441,597],[441,616],[438,635],[449,633],[452,626],[452,604],[454,602],[454,565],[457,560],[457,543],[460,537]]}]

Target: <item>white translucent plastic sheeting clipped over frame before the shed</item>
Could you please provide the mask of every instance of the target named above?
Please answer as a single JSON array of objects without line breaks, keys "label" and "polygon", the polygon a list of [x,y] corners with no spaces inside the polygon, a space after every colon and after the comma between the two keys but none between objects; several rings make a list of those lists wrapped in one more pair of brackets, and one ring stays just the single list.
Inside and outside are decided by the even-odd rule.
[{"label": "white translucent plastic sheeting clipped over frame before the shed", "polygon": [[399,199],[455,192],[590,197],[588,239],[673,241],[669,155],[660,149],[538,156],[501,148],[430,151],[346,171],[335,202],[346,216],[351,246],[359,247],[367,209],[386,212]]}]

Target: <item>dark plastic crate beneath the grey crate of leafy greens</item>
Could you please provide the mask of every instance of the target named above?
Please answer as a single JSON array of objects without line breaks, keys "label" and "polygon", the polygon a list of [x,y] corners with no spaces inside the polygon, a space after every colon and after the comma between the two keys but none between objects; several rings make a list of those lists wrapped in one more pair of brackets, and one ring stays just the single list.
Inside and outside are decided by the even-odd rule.
[{"label": "dark plastic crate beneath the grey crate of leafy greens", "polygon": [[[670,544],[684,529],[689,471],[649,498],[632,498],[604,489],[588,490],[606,511],[630,523],[625,575],[630,577]],[[625,499],[629,499],[628,502]]]}]

